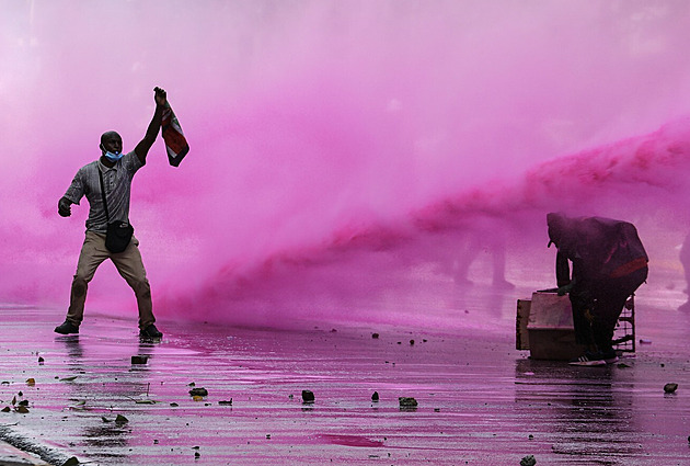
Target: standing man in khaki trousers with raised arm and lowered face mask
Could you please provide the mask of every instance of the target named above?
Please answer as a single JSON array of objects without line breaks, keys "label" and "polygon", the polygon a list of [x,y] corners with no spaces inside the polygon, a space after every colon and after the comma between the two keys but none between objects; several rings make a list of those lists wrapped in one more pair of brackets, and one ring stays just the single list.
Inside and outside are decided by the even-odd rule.
[{"label": "standing man in khaki trousers with raised arm and lowered face mask", "polygon": [[[58,202],[58,214],[62,217],[71,215],[71,204],[79,205],[87,196],[89,201],[89,218],[87,234],[81,248],[77,273],[72,281],[69,309],[65,322],[55,328],[57,333],[79,333],[79,326],[84,316],[84,303],[89,282],[93,279],[99,265],[106,259],[113,261],[119,274],[131,286],[139,308],[139,336],[160,339],[163,334],[153,323],[151,287],[146,277],[146,270],[139,252],[139,241],[131,239],[120,252],[112,252],[106,248],[106,230],[108,223],[129,225],[129,197],[131,179],[146,164],[146,156],[156,141],[161,128],[163,111],[168,102],[165,91],[154,89],[156,112],[146,130],[143,139],[128,154],[123,155],[123,139],[115,132],[101,136],[101,157],[79,169],[72,184]],[[105,201],[105,204],[104,204]]]}]

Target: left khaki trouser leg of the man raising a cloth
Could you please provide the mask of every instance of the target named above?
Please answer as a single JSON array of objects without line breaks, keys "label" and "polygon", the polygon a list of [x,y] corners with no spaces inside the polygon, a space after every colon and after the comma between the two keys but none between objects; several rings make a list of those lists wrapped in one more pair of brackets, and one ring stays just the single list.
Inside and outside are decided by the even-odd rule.
[{"label": "left khaki trouser leg of the man raising a cloth", "polygon": [[79,327],[84,318],[84,303],[89,282],[93,279],[99,265],[108,257],[105,249],[105,235],[87,231],[84,243],[79,253],[77,273],[72,279],[72,287],[69,297],[69,309],[66,320]]}]

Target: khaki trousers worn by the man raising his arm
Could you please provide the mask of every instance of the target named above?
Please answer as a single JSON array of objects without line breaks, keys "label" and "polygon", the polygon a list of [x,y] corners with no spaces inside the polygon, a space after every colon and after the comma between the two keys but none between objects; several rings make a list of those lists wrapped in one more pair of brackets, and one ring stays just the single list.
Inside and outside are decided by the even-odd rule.
[{"label": "khaki trousers worn by the man raising his arm", "polygon": [[131,237],[127,249],[113,253],[105,248],[105,234],[94,231],[87,231],[84,243],[81,247],[77,274],[72,281],[67,320],[76,326],[79,326],[83,320],[89,282],[93,279],[99,265],[106,259],[113,261],[117,272],[134,289],[139,307],[139,328],[147,328],[156,321],[156,318],[152,310],[151,287],[146,277],[146,270],[139,252],[139,241]]}]

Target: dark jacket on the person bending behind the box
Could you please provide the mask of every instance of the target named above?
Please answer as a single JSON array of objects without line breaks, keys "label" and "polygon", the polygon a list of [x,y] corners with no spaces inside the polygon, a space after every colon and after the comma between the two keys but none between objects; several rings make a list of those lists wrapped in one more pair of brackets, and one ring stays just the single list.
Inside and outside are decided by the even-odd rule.
[{"label": "dark jacket on the person bending behind the box", "polygon": [[559,249],[556,281],[570,283],[567,260],[573,262],[576,286],[625,276],[646,268],[649,261],[634,225],[602,217],[570,218],[563,214],[547,215],[549,246]]}]

